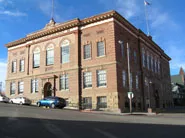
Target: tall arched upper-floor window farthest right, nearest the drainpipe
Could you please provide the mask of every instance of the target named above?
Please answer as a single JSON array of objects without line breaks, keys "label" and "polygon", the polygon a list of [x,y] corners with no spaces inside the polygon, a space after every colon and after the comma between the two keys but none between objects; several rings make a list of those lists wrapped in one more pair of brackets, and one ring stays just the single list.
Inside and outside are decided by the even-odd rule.
[{"label": "tall arched upper-floor window farthest right, nearest the drainpipe", "polygon": [[69,40],[64,40],[61,44],[61,63],[68,63],[69,62]]}]

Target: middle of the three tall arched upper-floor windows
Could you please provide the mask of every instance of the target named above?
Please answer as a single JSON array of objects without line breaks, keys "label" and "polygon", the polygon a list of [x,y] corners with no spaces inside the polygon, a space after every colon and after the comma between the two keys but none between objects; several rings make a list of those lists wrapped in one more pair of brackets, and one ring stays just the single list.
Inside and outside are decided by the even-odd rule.
[{"label": "middle of the three tall arched upper-floor windows", "polygon": [[54,64],[54,45],[50,44],[46,49],[46,65]]}]

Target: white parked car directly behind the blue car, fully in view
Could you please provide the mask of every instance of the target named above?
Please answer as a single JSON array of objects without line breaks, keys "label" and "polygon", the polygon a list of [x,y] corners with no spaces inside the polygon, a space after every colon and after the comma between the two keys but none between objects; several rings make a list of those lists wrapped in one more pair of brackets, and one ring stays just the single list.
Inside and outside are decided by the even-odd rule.
[{"label": "white parked car directly behind the blue car, fully in view", "polygon": [[31,100],[26,97],[17,97],[17,98],[10,99],[10,103],[30,105]]}]

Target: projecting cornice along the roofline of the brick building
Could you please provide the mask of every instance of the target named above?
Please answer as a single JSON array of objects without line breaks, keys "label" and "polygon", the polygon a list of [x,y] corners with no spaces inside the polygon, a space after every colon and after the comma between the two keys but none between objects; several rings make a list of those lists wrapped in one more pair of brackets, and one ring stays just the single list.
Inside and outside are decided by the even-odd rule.
[{"label": "projecting cornice along the roofline of the brick building", "polygon": [[44,28],[40,31],[28,34],[25,38],[10,42],[8,44],[6,44],[5,46],[7,48],[13,47],[13,46],[17,46],[20,44],[24,44],[27,43],[29,41],[44,37],[44,36],[48,36],[57,32],[61,32],[70,28],[74,28],[74,27],[83,27],[85,25],[94,23],[94,22],[98,22],[98,21],[103,21],[106,19],[110,19],[110,18],[114,18],[117,21],[119,21],[120,23],[124,24],[125,27],[127,27],[133,34],[136,34],[138,36],[138,38],[142,38],[142,40],[148,42],[151,45],[154,45],[156,47],[156,49],[158,49],[160,51],[160,53],[167,58],[168,60],[171,60],[171,58],[166,55],[164,53],[164,51],[154,42],[152,41],[150,36],[147,36],[144,32],[142,32],[140,29],[137,29],[135,26],[133,26],[130,22],[128,22],[123,16],[121,16],[118,12],[112,10],[112,11],[108,11],[99,15],[95,15],[89,18],[85,18],[85,19],[74,19],[65,23],[60,23],[60,24],[55,24],[54,26],[52,26],[51,28],[49,27]]}]

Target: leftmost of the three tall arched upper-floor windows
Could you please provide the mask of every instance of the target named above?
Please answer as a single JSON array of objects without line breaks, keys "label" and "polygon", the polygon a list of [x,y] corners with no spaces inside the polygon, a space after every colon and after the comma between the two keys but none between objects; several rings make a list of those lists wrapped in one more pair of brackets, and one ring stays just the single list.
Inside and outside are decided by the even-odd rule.
[{"label": "leftmost of the three tall arched upper-floor windows", "polygon": [[33,51],[33,68],[39,68],[40,67],[40,49],[37,47]]}]

